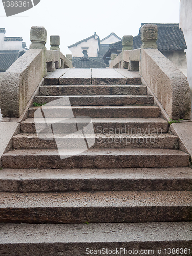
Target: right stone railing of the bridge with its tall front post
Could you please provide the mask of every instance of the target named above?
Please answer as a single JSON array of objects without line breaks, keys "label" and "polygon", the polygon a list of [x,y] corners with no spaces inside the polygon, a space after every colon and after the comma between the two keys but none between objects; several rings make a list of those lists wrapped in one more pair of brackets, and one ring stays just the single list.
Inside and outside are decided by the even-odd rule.
[{"label": "right stone railing of the bridge with its tall front post", "polygon": [[157,25],[141,28],[141,49],[124,50],[111,55],[109,68],[139,71],[148,87],[170,119],[190,119],[190,88],[186,76],[157,49]]}]

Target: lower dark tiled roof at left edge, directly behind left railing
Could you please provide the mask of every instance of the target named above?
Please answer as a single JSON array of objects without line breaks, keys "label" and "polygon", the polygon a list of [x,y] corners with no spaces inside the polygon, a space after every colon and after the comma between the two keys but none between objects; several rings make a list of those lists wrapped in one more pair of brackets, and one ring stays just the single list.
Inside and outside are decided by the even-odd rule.
[{"label": "lower dark tiled roof at left edge, directly behind left railing", "polygon": [[0,51],[0,72],[5,72],[17,59],[19,51]]}]

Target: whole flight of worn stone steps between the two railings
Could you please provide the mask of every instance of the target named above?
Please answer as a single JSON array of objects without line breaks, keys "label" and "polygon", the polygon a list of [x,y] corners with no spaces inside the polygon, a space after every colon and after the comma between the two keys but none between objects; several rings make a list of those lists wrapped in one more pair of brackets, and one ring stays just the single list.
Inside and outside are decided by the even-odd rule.
[{"label": "whole flight of worn stone steps between the two railings", "polygon": [[[46,140],[36,134],[38,108],[29,109],[13,150],[2,157],[0,222],[7,224],[0,225],[0,254],[77,256],[88,254],[86,248],[135,248],[156,255],[158,248],[166,255],[166,248],[187,248],[190,255],[189,155],[178,150],[178,137],[168,133],[141,78],[61,77],[59,84],[45,78],[34,102],[64,95],[81,127],[80,116],[92,118],[95,134],[87,138],[95,144],[66,157],[69,146],[59,155],[52,134],[45,133]],[[59,131],[70,133],[74,120],[63,120],[60,111],[70,106],[44,108],[48,126],[56,120],[58,138],[66,139]],[[36,121],[43,126],[44,120]],[[75,148],[81,136],[68,138]]]}]

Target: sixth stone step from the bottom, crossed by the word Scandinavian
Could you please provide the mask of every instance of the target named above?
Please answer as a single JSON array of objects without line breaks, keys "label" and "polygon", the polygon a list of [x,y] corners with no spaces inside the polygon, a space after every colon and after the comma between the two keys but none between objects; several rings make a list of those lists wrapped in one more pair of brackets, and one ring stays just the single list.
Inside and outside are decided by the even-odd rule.
[{"label": "sixth stone step from the bottom, crossed by the word Scandinavian", "polygon": [[[43,118],[36,118],[38,127],[42,125],[42,129],[45,127],[45,120]],[[76,131],[76,123],[74,119],[62,118],[46,118],[48,126],[54,123],[58,132],[66,131],[71,133]],[[84,127],[87,122],[84,118],[76,118],[78,125]],[[101,133],[167,133],[169,124],[167,121],[161,118],[92,118],[94,132]],[[33,118],[28,118],[20,125],[22,133],[36,133],[35,123]],[[74,130],[73,130],[74,129]]]}]

